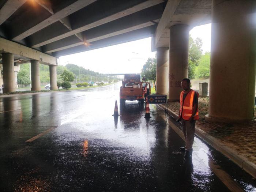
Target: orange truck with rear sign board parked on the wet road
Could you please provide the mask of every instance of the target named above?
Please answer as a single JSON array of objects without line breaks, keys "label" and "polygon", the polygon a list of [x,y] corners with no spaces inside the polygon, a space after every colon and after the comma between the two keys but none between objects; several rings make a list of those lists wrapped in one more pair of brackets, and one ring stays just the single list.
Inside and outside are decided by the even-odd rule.
[{"label": "orange truck with rear sign board parked on the wet road", "polygon": [[125,101],[139,101],[141,105],[144,103],[145,91],[147,84],[147,95],[150,95],[150,83],[141,82],[139,74],[125,74],[122,86],[120,87],[120,105],[125,105]]}]

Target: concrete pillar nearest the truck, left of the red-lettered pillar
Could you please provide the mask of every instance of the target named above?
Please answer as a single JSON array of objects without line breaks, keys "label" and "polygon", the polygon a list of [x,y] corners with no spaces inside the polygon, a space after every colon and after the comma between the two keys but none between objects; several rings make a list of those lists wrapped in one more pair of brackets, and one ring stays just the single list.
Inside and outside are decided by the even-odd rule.
[{"label": "concrete pillar nearest the truck, left of the red-lettered pillar", "polygon": [[[168,95],[169,93],[169,48],[157,48],[157,94]],[[169,95],[168,95],[169,96]]]}]

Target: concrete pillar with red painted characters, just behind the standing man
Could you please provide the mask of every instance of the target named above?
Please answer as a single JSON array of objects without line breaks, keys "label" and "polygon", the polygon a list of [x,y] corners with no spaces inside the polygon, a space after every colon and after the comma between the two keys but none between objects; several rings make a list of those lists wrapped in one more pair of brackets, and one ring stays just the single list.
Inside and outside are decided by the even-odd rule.
[{"label": "concrete pillar with red painted characters, just behind the standing man", "polygon": [[169,101],[180,99],[181,80],[188,78],[189,26],[170,27],[169,50]]}]

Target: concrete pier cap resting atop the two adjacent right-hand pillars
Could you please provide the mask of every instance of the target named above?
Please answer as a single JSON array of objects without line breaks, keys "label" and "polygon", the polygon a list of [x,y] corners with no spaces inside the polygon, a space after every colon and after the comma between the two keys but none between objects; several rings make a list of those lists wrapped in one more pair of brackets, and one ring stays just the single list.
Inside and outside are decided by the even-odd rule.
[{"label": "concrete pier cap resting atop the two adjacent right-hand pillars", "polygon": [[155,47],[169,47],[169,28],[173,25],[194,26],[211,22],[211,0],[169,0],[157,26]]}]

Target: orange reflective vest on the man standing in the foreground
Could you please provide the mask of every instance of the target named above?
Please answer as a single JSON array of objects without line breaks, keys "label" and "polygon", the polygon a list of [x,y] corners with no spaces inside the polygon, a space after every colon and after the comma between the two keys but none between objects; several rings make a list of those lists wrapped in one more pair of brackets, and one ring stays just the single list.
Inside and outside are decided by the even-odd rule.
[{"label": "orange reflective vest on the man standing in the foreground", "polygon": [[[180,93],[179,118],[182,117],[182,119],[188,121],[193,113],[193,101],[194,101],[195,94],[196,94],[197,98],[199,97],[199,94],[196,91],[191,90],[188,92],[185,100],[183,101],[184,93],[185,93],[185,91],[181,91],[181,93]],[[196,114],[195,114],[195,117],[193,118],[193,120],[199,120],[198,107],[196,109]]]}]

